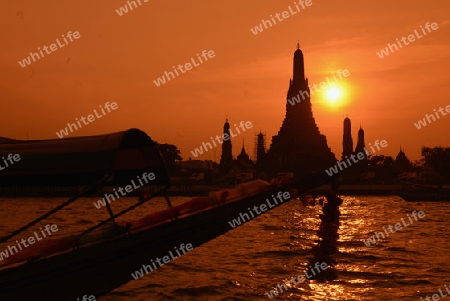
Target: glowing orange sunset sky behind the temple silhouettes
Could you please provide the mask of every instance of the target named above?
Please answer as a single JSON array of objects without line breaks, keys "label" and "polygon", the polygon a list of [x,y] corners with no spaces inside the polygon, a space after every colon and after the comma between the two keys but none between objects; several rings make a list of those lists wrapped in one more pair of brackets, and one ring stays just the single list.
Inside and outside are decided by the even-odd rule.
[{"label": "glowing orange sunset sky behind the temple silhouettes", "polygon": [[[367,2],[367,3],[366,3]],[[394,2],[394,3],[392,3]],[[253,129],[232,139],[237,155],[245,138],[253,156],[254,134],[272,135],[284,118],[297,39],[305,55],[310,85],[338,69],[350,76],[345,102],[330,108],[312,97],[313,113],[328,145],[340,158],[346,114],[354,144],[361,123],[366,145],[387,140],[385,155],[399,146],[411,159],[422,145],[450,146],[450,116],[418,130],[414,122],[450,105],[450,3],[408,1],[318,1],[258,35],[250,28],[282,13],[294,0],[172,1],[141,0],[123,16],[123,0],[3,0],[0,4],[0,136],[57,138],[75,118],[106,102],[118,109],[75,131],[95,135],[139,128],[161,143],[172,143],[182,157],[220,135],[230,123],[251,121]],[[380,59],[376,52],[426,22],[439,29]],[[22,68],[18,61],[68,31],[80,38]],[[161,87],[153,80],[185,64],[196,53],[215,57]],[[444,135],[444,133],[446,135]],[[221,150],[197,159],[220,159]]]}]

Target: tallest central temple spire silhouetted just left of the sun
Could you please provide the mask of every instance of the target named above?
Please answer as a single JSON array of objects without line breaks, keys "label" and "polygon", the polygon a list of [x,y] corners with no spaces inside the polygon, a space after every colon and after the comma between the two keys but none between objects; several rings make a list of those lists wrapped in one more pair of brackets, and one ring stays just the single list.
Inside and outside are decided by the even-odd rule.
[{"label": "tallest central temple spire silhouetted just left of the sun", "polygon": [[[311,172],[323,172],[336,164],[336,158],[313,117],[303,52],[299,44],[294,52],[293,69],[287,92],[286,115],[278,135],[272,137],[267,164],[272,174],[294,172],[295,177],[301,177]],[[302,100],[291,105],[288,100],[299,95]]]}]

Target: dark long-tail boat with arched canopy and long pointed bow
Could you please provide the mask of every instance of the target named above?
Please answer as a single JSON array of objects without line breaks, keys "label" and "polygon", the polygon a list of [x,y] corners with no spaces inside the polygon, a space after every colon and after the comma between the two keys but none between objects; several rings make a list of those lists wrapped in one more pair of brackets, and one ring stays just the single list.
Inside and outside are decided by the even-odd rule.
[{"label": "dark long-tail boat with arched canopy and long pointed bow", "polygon": [[[253,181],[236,188],[211,192],[173,207],[166,193],[170,177],[156,143],[137,129],[90,137],[55,140],[0,141],[0,156],[19,154],[20,161],[0,172],[0,196],[71,187],[72,197],[41,217],[0,239],[7,242],[80,197],[103,192],[104,187],[129,185],[144,173],[155,178],[139,201],[114,213],[76,236],[43,240],[41,244],[8,258],[0,266],[0,300],[76,300],[84,295],[99,297],[133,280],[131,273],[163,257],[174,247],[198,247],[230,230],[230,221],[247,208],[265,204],[280,193],[289,199],[333,180],[325,172],[291,183],[271,185]],[[168,209],[137,221],[117,222],[155,196],[167,200]],[[281,201],[281,199],[280,199]],[[275,206],[274,206],[275,207]],[[271,208],[268,208],[270,210]],[[186,256],[189,256],[188,254]]]}]

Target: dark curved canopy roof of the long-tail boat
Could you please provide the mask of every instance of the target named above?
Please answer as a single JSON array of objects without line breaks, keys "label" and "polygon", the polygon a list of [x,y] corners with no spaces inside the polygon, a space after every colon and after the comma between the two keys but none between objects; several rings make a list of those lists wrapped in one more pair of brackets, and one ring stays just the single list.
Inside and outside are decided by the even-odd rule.
[{"label": "dark curved canopy roof of the long-tail boat", "polygon": [[[8,160],[9,154],[20,160]],[[0,187],[84,186],[106,175],[112,175],[107,185],[130,185],[145,173],[155,175],[149,185],[170,186],[156,142],[138,129],[51,140],[1,138],[0,157]]]}]

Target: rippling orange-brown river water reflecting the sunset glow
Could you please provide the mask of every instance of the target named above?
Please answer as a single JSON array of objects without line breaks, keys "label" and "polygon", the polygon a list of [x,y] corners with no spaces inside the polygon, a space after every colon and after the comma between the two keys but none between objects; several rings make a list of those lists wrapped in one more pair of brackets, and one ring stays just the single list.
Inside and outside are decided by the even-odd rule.
[{"label": "rippling orange-brown river water reflecting the sunset glow", "polygon": [[[446,293],[444,285],[450,283],[449,203],[407,203],[397,196],[342,198],[338,278],[289,287],[276,300],[425,300],[427,295],[432,300],[439,289]],[[172,201],[177,205],[188,199],[175,197]],[[94,207],[96,200],[81,199],[15,239],[29,237],[38,227],[52,223],[59,229],[54,237],[86,229],[108,216],[104,208]],[[62,201],[1,199],[0,236]],[[113,203],[113,209],[134,202],[133,198],[121,198]],[[121,220],[137,219],[159,209],[165,209],[163,199]],[[312,247],[318,242],[321,209],[292,200],[97,300],[270,300],[266,292],[307,268]],[[425,217],[411,223],[407,215],[414,210],[423,211]],[[389,236],[374,245],[364,244],[374,232],[383,232],[383,227],[401,223],[402,218],[410,225],[388,232]],[[1,244],[0,251],[7,245]]]}]

